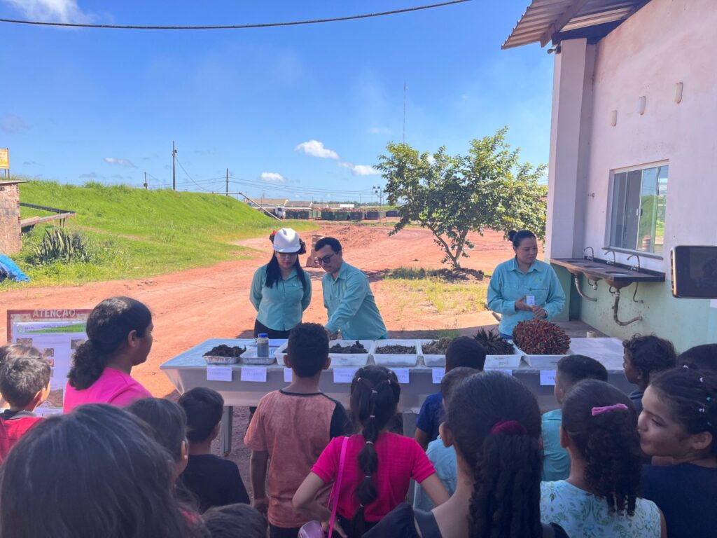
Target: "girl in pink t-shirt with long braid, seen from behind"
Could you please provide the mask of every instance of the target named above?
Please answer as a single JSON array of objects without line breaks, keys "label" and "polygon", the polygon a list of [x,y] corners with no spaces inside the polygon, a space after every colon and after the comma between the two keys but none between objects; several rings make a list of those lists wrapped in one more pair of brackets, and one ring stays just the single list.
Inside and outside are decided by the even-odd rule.
[{"label": "girl in pink t-shirt with long braid, seen from behind", "polygon": [[[359,538],[404,501],[411,478],[436,504],[448,499],[440,478],[420,445],[412,438],[389,433],[401,386],[394,372],[379,366],[359,369],[351,382],[351,419],[361,433],[346,440],[346,459],[338,491],[336,529]],[[314,499],[336,481],[341,445],[333,438],[294,496],[294,507],[322,522],[331,512]]]}]

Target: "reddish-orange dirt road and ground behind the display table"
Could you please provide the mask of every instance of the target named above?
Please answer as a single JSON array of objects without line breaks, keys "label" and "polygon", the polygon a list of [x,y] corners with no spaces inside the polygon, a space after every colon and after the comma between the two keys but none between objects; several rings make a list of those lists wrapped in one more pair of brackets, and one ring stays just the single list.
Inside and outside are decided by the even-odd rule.
[{"label": "reddish-orange dirt road and ground behind the display table", "polygon": [[[440,268],[441,251],[432,242],[428,230],[409,228],[389,237],[390,228],[358,225],[321,225],[320,233],[341,240],[344,259],[365,270],[372,280],[371,288],[386,326],[402,334],[421,329],[444,329],[447,326],[470,330],[492,324],[488,312],[441,316],[429,313],[407,317],[398,311],[391,297],[382,295],[382,275],[399,267]],[[307,237],[310,244],[310,237]],[[465,268],[492,272],[495,265],[512,255],[511,245],[503,235],[488,232],[475,234],[471,258]],[[92,308],[104,298],[127,295],[146,303],[153,312],[154,344],[146,364],[133,369],[136,377],[153,395],[166,396],[174,391],[159,365],[208,338],[250,337],[255,310],[249,302],[249,288],[257,267],[270,257],[266,237],[245,240],[239,245],[256,249],[250,260],[224,262],[211,268],[199,268],[141,280],[114,280],[67,288],[26,288],[0,294],[0,331],[4,334],[7,308]],[[323,270],[308,268],[313,283],[313,301],[304,321],[326,322],[321,300]]]}]

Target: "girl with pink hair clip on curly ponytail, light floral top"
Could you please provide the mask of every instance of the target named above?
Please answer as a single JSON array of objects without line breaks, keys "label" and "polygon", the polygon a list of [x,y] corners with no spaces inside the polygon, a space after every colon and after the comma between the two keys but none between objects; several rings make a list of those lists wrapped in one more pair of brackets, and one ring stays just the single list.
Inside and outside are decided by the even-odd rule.
[{"label": "girl with pink hair clip on curly ponytail, light floral top", "polygon": [[560,444],[570,475],[541,484],[543,522],[571,537],[667,536],[655,503],[638,496],[642,451],[630,397],[597,379],[576,384],[563,402]]}]

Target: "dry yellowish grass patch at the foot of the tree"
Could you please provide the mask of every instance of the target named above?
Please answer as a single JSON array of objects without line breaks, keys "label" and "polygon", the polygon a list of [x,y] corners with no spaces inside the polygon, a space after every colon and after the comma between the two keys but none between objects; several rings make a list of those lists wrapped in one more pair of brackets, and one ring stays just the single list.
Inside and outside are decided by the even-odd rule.
[{"label": "dry yellowish grass patch at the foot of the tree", "polygon": [[488,283],[451,280],[441,271],[399,268],[386,276],[384,286],[395,298],[399,316],[403,316],[406,309],[417,314],[426,311],[457,314],[487,308]]}]

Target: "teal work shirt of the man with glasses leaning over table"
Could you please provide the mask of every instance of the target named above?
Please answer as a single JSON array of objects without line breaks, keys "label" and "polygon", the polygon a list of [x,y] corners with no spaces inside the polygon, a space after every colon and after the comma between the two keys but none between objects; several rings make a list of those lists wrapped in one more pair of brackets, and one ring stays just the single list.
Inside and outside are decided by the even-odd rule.
[{"label": "teal work shirt of the man with glasses leaning over table", "polygon": [[380,340],[388,336],[369,279],[361,270],[343,262],[336,279],[326,273],[321,284],[323,306],[328,311],[326,329],[331,333],[341,329],[345,340]]}]

